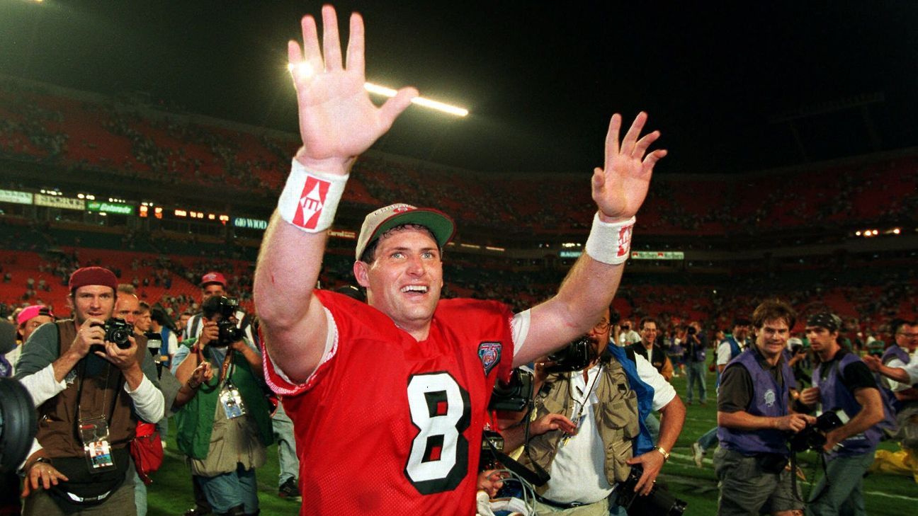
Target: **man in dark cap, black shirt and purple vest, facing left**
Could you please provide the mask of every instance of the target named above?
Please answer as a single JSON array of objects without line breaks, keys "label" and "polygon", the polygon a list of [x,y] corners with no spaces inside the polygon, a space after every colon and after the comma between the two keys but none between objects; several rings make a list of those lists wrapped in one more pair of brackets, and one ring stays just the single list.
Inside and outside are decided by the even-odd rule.
[{"label": "man in dark cap, black shirt and purple vest, facing left", "polygon": [[[818,412],[844,411],[842,426],[825,434],[825,475],[812,489],[807,514],[864,514],[864,474],[883,428],[894,425],[891,410],[884,409],[877,381],[855,353],[838,344],[842,320],[830,313],[807,320],[806,335],[820,365],[812,372],[813,387],[800,393],[800,402]],[[884,413],[884,411],[886,413]],[[845,420],[843,419],[843,421]]]}]

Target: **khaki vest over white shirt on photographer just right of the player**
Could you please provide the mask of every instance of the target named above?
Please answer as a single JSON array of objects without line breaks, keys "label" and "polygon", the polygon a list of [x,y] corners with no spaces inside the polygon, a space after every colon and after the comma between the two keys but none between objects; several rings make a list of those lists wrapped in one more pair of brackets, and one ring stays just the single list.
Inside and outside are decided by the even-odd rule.
[{"label": "khaki vest over white shirt on photographer just right of the player", "polygon": [[[580,374],[580,371],[576,371],[548,376],[535,400],[535,417],[564,414],[573,421],[574,400],[570,396],[570,377]],[[614,359],[602,365],[598,381],[599,385],[595,392],[599,403],[593,406],[593,415],[606,452],[606,480],[610,485],[615,485],[616,482],[628,478],[631,472],[631,466],[625,464],[625,461],[632,457],[632,441],[641,432],[638,399],[628,383],[628,376]],[[528,443],[532,461],[542,466],[545,471],[549,471],[563,436],[563,432],[554,430],[533,437]],[[520,459],[522,464],[530,466],[526,454],[522,454]],[[542,488],[536,488],[536,492],[544,493],[547,488],[546,484]]]}]

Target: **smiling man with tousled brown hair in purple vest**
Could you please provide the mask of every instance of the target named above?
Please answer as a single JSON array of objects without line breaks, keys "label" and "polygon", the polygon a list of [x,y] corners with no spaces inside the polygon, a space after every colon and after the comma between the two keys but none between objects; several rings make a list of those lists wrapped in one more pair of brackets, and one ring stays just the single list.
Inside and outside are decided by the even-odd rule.
[{"label": "smiling man with tousled brown hair in purple vest", "polygon": [[760,304],[752,317],[756,345],[723,370],[717,396],[721,447],[714,453],[719,515],[790,515],[803,509],[786,467],[789,433],[815,421],[790,411],[793,375],[783,352],[796,321],[783,301]]}]

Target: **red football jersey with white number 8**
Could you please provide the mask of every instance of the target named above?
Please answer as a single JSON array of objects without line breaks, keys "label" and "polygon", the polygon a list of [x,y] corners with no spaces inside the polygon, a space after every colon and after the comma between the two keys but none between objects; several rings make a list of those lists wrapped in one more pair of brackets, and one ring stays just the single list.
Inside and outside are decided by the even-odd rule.
[{"label": "red football jersey with white number 8", "polygon": [[299,386],[264,361],[294,422],[300,514],[475,514],[487,402],[512,367],[510,309],[441,300],[416,342],[375,308],[316,295],[338,327],[333,356]]}]

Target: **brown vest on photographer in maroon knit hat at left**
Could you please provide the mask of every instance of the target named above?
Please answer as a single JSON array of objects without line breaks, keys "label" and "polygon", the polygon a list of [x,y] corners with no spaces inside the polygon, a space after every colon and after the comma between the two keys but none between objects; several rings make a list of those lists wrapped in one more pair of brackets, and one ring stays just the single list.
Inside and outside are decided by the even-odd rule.
[{"label": "brown vest on photographer in maroon knit hat at left", "polygon": [[[70,349],[76,337],[76,326],[73,320],[59,320],[55,324],[58,328],[60,357]],[[137,334],[134,335],[134,339],[137,341],[138,360],[142,361],[147,353],[147,339]],[[121,370],[106,362],[102,365],[100,374],[84,377],[86,361],[87,358],[84,357],[73,368],[76,371],[73,383],[68,383],[61,393],[39,406],[37,437],[50,457],[84,455],[83,443],[76,431],[76,419],[79,417],[76,407],[78,397],[84,418],[105,414],[108,423],[108,442],[112,447],[123,448],[134,439],[137,426],[137,420],[132,413],[134,403],[124,390],[125,379]],[[79,395],[81,384],[83,393]]]}]

